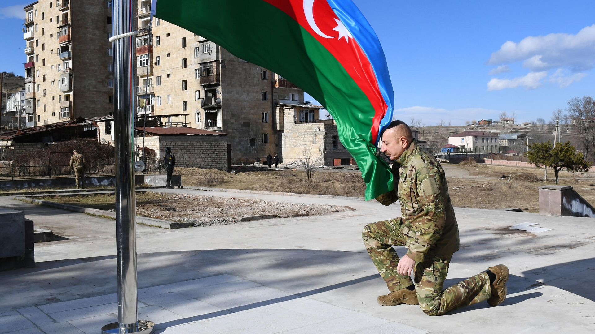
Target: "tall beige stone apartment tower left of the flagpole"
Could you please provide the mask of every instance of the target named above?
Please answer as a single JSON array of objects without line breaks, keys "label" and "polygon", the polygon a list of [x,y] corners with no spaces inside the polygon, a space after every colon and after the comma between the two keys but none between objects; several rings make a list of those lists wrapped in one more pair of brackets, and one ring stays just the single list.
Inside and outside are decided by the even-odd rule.
[{"label": "tall beige stone apartment tower left of the flagpole", "polygon": [[27,127],[112,112],[111,1],[39,0],[24,10]]}]

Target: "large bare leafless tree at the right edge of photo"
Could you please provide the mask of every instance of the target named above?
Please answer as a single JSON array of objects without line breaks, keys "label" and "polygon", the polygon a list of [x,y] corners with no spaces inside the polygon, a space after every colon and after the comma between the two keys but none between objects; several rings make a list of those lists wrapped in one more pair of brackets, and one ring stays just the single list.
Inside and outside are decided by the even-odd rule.
[{"label": "large bare leafless tree at the right edge of photo", "polygon": [[591,159],[595,149],[595,100],[591,96],[574,97],[568,100],[566,112],[574,141]]}]

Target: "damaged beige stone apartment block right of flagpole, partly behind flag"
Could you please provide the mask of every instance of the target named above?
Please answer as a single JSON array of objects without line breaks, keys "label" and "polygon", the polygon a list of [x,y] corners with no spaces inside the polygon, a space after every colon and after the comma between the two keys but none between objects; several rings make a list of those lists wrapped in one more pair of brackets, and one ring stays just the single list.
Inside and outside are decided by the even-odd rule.
[{"label": "damaged beige stone apartment block right of flagpole, partly behind flag", "polygon": [[[149,23],[149,0],[138,0],[138,25]],[[280,100],[303,102],[303,91],[214,42],[155,19],[152,39],[137,36],[139,113],[188,114],[188,126],[227,133],[233,163],[280,155],[275,124]],[[148,59],[148,60],[145,60]],[[182,116],[172,117],[180,125]]]}]

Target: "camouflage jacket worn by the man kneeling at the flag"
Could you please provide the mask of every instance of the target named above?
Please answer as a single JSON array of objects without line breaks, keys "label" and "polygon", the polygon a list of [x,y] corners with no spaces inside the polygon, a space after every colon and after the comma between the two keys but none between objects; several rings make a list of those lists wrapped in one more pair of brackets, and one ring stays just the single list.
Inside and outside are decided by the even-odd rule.
[{"label": "camouflage jacket worn by the man kneeling at the flag", "polygon": [[400,202],[406,255],[417,262],[428,254],[451,256],[459,250],[459,226],[444,169],[415,142],[394,163],[400,165],[394,190],[376,200],[384,205]]}]

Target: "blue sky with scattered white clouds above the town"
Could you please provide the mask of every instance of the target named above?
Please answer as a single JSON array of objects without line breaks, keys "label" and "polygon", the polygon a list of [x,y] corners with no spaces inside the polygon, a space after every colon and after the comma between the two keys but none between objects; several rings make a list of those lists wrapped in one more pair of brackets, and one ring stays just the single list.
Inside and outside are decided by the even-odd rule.
[{"label": "blue sky with scattered white clouds above the town", "polygon": [[[595,1],[355,0],[383,44],[396,113],[440,119],[550,119],[595,95]],[[2,0],[0,71],[23,74],[29,2]]]}]

